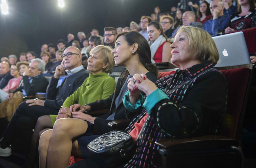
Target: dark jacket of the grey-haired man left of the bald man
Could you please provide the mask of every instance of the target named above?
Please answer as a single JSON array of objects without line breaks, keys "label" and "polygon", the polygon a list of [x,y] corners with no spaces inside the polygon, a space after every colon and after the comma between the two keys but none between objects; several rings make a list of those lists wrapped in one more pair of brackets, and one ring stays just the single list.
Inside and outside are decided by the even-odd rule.
[{"label": "dark jacket of the grey-haired man left of the bald man", "polygon": [[25,90],[27,96],[35,95],[37,92],[46,93],[46,88],[49,82],[44,77],[44,75],[39,75],[38,77],[33,78],[31,83],[29,83],[28,75],[22,77],[22,80],[23,80],[23,86],[15,89],[13,93],[16,93],[17,91],[22,92],[22,89]]}]

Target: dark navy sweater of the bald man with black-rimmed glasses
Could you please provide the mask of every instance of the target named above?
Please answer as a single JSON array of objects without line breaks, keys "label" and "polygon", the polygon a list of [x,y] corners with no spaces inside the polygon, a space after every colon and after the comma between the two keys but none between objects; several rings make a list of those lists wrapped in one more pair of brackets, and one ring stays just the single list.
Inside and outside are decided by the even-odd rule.
[{"label": "dark navy sweater of the bald man with black-rimmed glasses", "polygon": [[60,109],[66,98],[73,94],[88,76],[89,72],[85,69],[81,69],[73,75],[66,77],[58,88],[56,87],[59,79],[52,77],[47,89],[47,100],[44,101],[44,106]]}]

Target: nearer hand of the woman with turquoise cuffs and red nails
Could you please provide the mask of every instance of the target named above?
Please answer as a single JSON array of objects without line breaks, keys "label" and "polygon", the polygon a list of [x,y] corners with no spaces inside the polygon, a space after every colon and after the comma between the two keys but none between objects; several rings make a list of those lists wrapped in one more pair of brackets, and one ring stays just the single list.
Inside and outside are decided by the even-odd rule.
[{"label": "nearer hand of the woman with turquoise cuffs and red nails", "polygon": [[147,96],[149,96],[153,91],[157,90],[157,86],[148,78],[145,77],[144,79],[144,76],[146,75],[135,74],[133,75],[133,78],[136,80],[135,85],[138,87],[138,89],[146,93]]}]

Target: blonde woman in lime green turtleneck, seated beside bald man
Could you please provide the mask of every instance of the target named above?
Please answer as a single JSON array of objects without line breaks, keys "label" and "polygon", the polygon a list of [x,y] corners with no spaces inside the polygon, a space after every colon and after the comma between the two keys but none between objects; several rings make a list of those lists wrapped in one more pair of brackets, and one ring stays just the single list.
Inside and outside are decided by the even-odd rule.
[{"label": "blonde woman in lime green turtleneck, seated beside bald man", "polygon": [[[79,104],[85,104],[100,99],[107,99],[114,92],[116,82],[113,77],[107,75],[115,65],[111,50],[112,49],[107,46],[98,45],[91,51],[90,57],[88,58],[88,70],[91,71],[89,77],[85,79],[84,83],[77,91],[64,101],[63,108],[61,108],[60,111],[66,111],[67,109],[69,111],[69,107],[77,102]],[[39,117],[33,133],[30,152],[24,167],[34,167],[39,132],[45,128],[52,128],[55,120],[64,117],[64,115],[58,115],[57,119],[56,117],[57,115],[44,115]]]}]

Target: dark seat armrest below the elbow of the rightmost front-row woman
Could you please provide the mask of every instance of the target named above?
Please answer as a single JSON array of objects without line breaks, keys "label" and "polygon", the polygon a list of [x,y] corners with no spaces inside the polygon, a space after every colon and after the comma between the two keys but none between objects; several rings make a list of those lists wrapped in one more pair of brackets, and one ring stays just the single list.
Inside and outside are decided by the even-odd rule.
[{"label": "dark seat armrest below the elbow of the rightmost front-row woman", "polygon": [[238,147],[239,141],[226,136],[198,136],[190,139],[162,139],[155,144],[163,149],[182,150],[182,149],[210,149],[235,146]]}]

